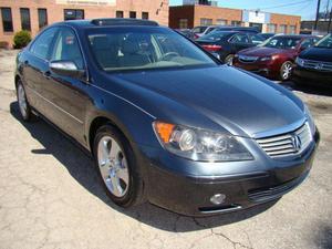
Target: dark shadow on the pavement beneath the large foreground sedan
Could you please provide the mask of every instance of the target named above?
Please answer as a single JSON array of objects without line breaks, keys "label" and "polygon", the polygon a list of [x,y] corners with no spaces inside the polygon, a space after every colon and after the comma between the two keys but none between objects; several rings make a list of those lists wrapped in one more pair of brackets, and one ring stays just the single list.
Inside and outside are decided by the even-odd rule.
[{"label": "dark shadow on the pavement beneath the large foreground sedan", "polygon": [[190,218],[180,216],[165,209],[144,204],[129,210],[124,210],[115,206],[104,193],[100,184],[98,175],[94,168],[92,159],[77,146],[71,143],[64,135],[53,128],[42,120],[25,123],[22,121],[17,102],[10,104],[11,115],[20,122],[31,136],[42,144],[43,149],[31,149],[34,154],[50,154],[54,156],[86,190],[98,197],[106,205],[116,211],[127,215],[148,226],[167,231],[193,231],[199,229],[210,229],[218,226],[238,222],[272,207],[278,200],[252,207],[247,210],[218,215],[206,218]]}]

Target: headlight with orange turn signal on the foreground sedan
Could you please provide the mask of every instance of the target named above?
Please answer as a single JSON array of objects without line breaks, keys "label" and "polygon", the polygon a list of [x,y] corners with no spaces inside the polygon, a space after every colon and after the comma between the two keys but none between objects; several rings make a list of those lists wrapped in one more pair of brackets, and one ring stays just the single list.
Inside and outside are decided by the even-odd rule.
[{"label": "headlight with orange turn signal on the foreground sedan", "polygon": [[236,136],[154,122],[159,143],[168,152],[193,160],[251,160],[252,155]]}]

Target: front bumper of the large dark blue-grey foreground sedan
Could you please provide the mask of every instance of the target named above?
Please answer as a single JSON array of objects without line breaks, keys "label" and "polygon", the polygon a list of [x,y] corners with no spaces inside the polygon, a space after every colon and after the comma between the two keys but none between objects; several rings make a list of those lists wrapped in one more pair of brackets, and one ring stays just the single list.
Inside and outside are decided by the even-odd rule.
[{"label": "front bumper of the large dark blue-grey foreground sedan", "polygon": [[[187,216],[236,211],[278,199],[307,178],[318,142],[317,134],[315,143],[312,143],[297,160],[271,159],[270,165],[264,163],[262,170],[258,170],[258,167],[250,170],[255,164],[259,164],[257,160],[241,162],[241,166],[235,167],[240,167],[243,173],[218,176],[186,175],[180,172],[184,159],[175,156],[170,158],[169,155],[164,157],[158,155],[160,152],[143,147],[145,165],[148,165],[147,198],[152,204]],[[165,164],[172,164],[172,169]],[[197,164],[204,167],[204,163],[191,162],[191,164],[193,167]],[[219,163],[219,166],[222,167],[222,163]],[[175,169],[176,167],[179,172]],[[210,201],[211,196],[216,194],[226,196],[222,204],[215,205]]]}]

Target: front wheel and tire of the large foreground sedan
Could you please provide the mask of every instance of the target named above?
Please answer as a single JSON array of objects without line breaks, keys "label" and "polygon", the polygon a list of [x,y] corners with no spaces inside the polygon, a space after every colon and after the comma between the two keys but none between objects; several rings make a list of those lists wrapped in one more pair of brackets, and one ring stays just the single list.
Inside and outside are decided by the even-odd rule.
[{"label": "front wheel and tire of the large foreground sedan", "polygon": [[143,180],[127,139],[112,125],[97,129],[94,158],[107,196],[120,207],[143,201]]}]

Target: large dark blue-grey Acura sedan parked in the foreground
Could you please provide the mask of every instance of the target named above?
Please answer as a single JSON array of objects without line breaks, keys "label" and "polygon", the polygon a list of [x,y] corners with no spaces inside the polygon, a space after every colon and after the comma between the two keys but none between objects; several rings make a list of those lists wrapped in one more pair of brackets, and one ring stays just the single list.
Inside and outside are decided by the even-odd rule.
[{"label": "large dark blue-grey Acura sedan parked in the foreground", "polygon": [[14,79],[22,118],[90,152],[125,208],[147,199],[204,216],[270,201],[305,179],[318,146],[294,94],[153,21],[52,24],[19,53]]}]

